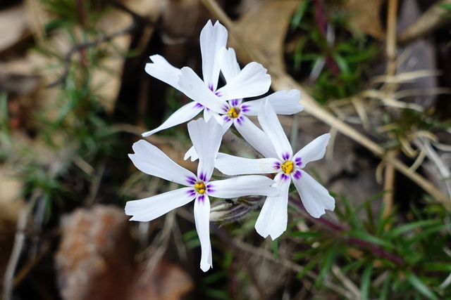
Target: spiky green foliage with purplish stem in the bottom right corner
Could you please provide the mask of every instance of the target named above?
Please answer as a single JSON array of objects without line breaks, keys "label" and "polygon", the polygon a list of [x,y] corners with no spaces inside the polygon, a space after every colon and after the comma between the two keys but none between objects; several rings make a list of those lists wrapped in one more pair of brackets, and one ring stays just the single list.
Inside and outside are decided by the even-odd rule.
[{"label": "spiky green foliage with purplish stem in the bottom right corner", "polygon": [[[438,288],[451,270],[444,251],[450,242],[451,224],[445,221],[449,213],[443,209],[438,213],[433,204],[421,211],[412,208],[414,219],[398,224],[394,215],[374,216],[368,209],[370,201],[353,208],[342,196],[338,202],[342,205],[335,208],[339,223],[346,224],[342,229],[328,222],[319,222],[322,230],[288,229],[290,237],[305,246],[293,256],[304,266],[298,275],[314,270],[319,287],[335,264],[348,278],[358,278],[362,299],[400,299],[407,293],[414,299],[450,297],[449,290]],[[374,280],[384,277],[376,286]]]}]

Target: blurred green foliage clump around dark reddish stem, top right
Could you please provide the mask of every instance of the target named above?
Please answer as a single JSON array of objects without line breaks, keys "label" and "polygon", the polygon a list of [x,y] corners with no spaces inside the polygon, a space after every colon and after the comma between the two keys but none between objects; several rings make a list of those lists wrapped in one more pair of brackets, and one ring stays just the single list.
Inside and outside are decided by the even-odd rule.
[{"label": "blurred green foliage clump around dark reddish stem, top right", "polygon": [[365,63],[378,53],[367,37],[347,32],[347,15],[339,7],[333,11],[325,15],[335,32],[335,39],[329,41],[317,24],[314,1],[302,1],[291,20],[292,31],[300,34],[292,54],[293,66],[295,70],[319,68],[319,74],[307,80],[319,103],[358,93]]}]

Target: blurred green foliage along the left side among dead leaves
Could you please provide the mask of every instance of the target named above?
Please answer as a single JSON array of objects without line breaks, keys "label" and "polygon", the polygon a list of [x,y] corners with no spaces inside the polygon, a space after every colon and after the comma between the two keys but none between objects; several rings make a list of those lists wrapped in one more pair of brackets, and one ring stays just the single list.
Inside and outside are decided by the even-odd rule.
[{"label": "blurred green foliage along the left side among dead leaves", "polygon": [[[105,118],[104,105],[93,84],[93,72],[107,70],[105,58],[126,53],[109,53],[106,44],[98,42],[105,34],[97,29],[97,21],[104,9],[95,1],[43,0],[52,18],[47,24],[47,34],[60,34],[73,50],[56,51],[51,39],[33,49],[46,56],[51,63],[42,70],[54,71],[61,79],[51,88],[55,98],[32,115],[35,136],[32,145],[13,138],[8,125],[7,96],[0,96],[0,158],[13,164],[24,183],[23,195],[31,197],[39,191],[48,203],[49,219],[54,203],[59,200],[82,202],[88,190],[74,187],[91,184],[97,167],[105,164],[117,148],[117,139]],[[93,6],[96,6],[94,9]],[[98,9],[97,8],[101,8]],[[82,45],[82,46],[80,46]],[[63,205],[66,205],[64,203]]]}]

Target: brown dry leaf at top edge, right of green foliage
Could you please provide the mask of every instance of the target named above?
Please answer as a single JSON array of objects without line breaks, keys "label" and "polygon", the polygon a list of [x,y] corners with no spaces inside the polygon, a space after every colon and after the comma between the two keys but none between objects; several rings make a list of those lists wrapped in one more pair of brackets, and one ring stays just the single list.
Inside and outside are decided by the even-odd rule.
[{"label": "brown dry leaf at top edge, right of green foliage", "polygon": [[358,32],[369,34],[376,39],[383,39],[385,32],[381,24],[381,6],[385,0],[347,0],[343,8],[349,11],[350,25]]}]

